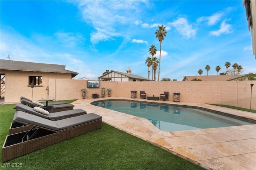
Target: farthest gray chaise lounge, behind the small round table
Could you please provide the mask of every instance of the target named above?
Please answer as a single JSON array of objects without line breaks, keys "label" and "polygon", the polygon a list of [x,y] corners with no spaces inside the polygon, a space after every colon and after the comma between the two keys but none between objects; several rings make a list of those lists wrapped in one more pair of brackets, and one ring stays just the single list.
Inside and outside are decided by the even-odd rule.
[{"label": "farthest gray chaise lounge, behind the small round table", "polygon": [[[40,105],[36,105],[34,103],[32,103],[29,100],[26,99],[21,99],[20,100],[21,103],[23,103],[24,105],[28,105],[29,107],[40,107]],[[51,103],[49,104],[49,106],[51,105]],[[74,105],[72,104],[61,104],[61,105],[53,105],[53,111],[52,112],[60,112],[60,111],[67,111],[67,110],[73,110]]]}]

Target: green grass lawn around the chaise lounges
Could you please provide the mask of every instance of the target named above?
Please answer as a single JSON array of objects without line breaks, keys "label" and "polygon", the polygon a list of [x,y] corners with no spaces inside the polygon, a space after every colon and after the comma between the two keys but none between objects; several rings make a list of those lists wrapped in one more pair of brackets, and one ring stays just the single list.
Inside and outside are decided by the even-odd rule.
[{"label": "green grass lawn around the chaise lounges", "polygon": [[[72,101],[66,101],[71,103]],[[14,104],[0,105],[0,144],[14,116]],[[1,150],[2,162],[2,150]],[[203,169],[140,138],[102,123],[102,128],[5,163],[31,170],[197,170]],[[2,169],[5,168],[2,164]]]}]

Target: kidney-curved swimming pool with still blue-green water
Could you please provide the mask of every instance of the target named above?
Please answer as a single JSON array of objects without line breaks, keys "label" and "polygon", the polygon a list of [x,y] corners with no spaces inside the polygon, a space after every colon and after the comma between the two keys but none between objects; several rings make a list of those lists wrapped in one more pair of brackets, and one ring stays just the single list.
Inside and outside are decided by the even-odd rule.
[{"label": "kidney-curved swimming pool with still blue-green water", "polygon": [[162,105],[129,100],[106,100],[93,102],[92,105],[114,111],[143,117],[164,131],[194,130],[202,128],[252,125],[254,122],[238,119],[205,109]]}]

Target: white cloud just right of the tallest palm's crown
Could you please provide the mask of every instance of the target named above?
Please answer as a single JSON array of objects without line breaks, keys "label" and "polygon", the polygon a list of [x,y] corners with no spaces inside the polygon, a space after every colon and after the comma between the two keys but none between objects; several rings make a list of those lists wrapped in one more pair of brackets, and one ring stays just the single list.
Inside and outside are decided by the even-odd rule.
[{"label": "white cloud just right of the tallest palm's crown", "polygon": [[192,38],[196,35],[196,29],[193,29],[192,25],[188,24],[188,20],[186,18],[178,18],[169,24],[176,28],[183,37]]}]

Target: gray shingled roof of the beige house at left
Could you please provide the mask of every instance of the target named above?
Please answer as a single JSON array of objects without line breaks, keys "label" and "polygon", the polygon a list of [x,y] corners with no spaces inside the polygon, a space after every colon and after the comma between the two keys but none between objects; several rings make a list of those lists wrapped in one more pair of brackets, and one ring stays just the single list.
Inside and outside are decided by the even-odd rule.
[{"label": "gray shingled roof of the beige house at left", "polygon": [[65,67],[65,65],[58,64],[32,63],[25,61],[12,61],[0,59],[0,69],[4,70],[69,73],[72,74],[72,77],[78,75],[78,73],[74,71],[66,70]]}]

